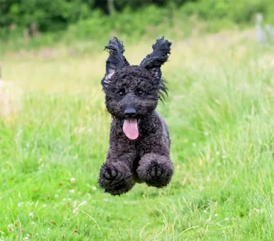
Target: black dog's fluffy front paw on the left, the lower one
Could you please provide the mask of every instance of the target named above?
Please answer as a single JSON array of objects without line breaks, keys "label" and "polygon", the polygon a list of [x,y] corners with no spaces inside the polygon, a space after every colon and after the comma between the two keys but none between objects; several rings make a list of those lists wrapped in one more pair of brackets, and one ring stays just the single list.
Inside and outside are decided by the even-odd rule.
[{"label": "black dog's fluffy front paw on the left, the lower one", "polygon": [[133,174],[120,161],[105,163],[100,170],[99,185],[112,195],[121,195],[134,186]]}]

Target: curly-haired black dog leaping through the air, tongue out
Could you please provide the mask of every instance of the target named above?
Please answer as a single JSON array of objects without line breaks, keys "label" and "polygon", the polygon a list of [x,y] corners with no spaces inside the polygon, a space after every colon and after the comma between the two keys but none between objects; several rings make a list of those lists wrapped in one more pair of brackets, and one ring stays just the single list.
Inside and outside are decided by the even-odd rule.
[{"label": "curly-haired black dog leaping through the air, tongue out", "polygon": [[98,183],[112,195],[121,195],[135,183],[168,185],[174,168],[171,140],[164,119],[155,108],[167,88],[161,65],[169,58],[171,42],[159,38],[140,65],[129,65],[123,43],[110,40],[105,49],[105,77],[101,80],[105,104],[112,115],[110,147]]}]

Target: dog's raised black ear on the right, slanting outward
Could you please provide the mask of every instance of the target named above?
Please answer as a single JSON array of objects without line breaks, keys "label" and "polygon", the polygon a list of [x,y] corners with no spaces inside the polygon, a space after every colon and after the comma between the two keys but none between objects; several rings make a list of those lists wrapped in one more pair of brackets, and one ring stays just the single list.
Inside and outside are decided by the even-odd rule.
[{"label": "dog's raised black ear on the right, slanting outward", "polygon": [[156,43],[152,45],[152,53],[148,54],[140,63],[140,66],[147,69],[158,84],[160,84],[162,78],[160,68],[171,54],[171,44],[171,42],[164,40],[164,36],[158,38]]}]

